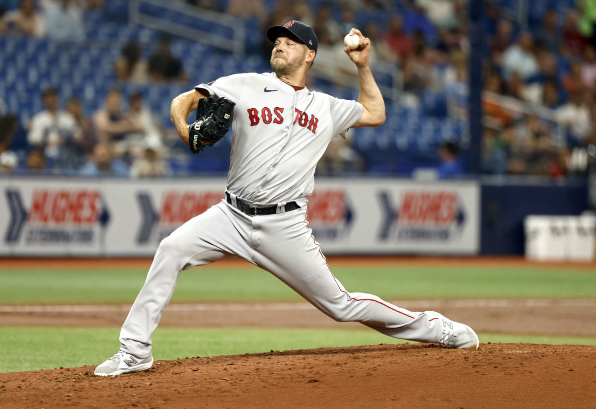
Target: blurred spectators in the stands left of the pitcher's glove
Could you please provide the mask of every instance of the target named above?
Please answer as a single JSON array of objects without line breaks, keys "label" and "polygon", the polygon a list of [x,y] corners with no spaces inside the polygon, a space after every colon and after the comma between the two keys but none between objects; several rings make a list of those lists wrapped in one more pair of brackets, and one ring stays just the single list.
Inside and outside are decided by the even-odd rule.
[{"label": "blurred spectators in the stands left of the pitcher's glove", "polygon": [[[57,41],[84,39],[83,10],[101,10],[103,0],[5,1],[8,11],[0,19],[3,35],[48,37]],[[11,9],[10,7],[15,7]],[[0,8],[2,10],[2,8]],[[137,43],[122,47],[114,62],[120,83],[184,82],[182,62],[172,57],[169,40],[163,37],[148,61],[141,58]],[[80,176],[159,177],[171,174],[166,139],[156,115],[143,103],[141,93],[122,95],[111,89],[103,107],[87,114],[79,99],[59,106],[56,89],[41,90],[44,109],[26,127],[26,155],[10,150],[18,121],[8,113],[0,95],[0,172],[19,174],[69,174]],[[171,131],[171,130],[170,130]]]}]

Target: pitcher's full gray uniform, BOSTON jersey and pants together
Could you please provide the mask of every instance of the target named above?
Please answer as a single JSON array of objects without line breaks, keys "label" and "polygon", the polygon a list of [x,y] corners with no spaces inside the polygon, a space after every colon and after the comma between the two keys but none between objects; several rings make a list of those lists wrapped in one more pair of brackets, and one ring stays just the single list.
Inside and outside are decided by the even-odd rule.
[{"label": "pitcher's full gray uniform, BOSTON jersey and pants together", "polygon": [[[312,193],[316,162],[333,136],[359,120],[362,105],[295,89],[275,74],[232,75],[196,88],[236,103],[229,197],[160,243],[122,326],[121,351],[149,357],[151,334],[181,271],[234,255],[270,271],[337,321],[358,321],[412,341],[444,339],[454,323],[434,311],[412,312],[375,295],[346,291],[308,227],[306,196]],[[237,198],[275,211],[247,213]]]}]

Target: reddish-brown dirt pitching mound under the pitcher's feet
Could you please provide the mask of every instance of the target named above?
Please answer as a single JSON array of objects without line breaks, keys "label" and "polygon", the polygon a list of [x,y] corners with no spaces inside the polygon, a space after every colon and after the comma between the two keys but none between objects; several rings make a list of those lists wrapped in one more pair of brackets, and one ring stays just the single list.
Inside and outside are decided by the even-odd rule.
[{"label": "reddish-brown dirt pitching mound under the pitcher's feet", "polygon": [[404,344],[0,374],[0,408],[594,408],[596,347]]}]

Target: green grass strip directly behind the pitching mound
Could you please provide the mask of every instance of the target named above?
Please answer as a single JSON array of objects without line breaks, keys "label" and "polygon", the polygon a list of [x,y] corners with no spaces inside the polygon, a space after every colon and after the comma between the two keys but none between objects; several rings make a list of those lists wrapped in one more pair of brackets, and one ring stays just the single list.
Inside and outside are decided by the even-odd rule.
[{"label": "green grass strip directly behind the pitching mound", "polygon": [[[0,327],[0,373],[93,366],[119,348],[116,328]],[[596,338],[479,334],[480,342],[596,345]],[[155,360],[333,346],[401,344],[373,330],[284,328],[159,328]]]}]

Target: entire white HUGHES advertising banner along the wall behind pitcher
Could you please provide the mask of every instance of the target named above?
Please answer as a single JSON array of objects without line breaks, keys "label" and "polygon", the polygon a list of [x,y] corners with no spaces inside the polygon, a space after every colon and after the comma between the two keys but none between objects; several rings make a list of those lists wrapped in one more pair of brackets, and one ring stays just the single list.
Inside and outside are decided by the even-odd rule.
[{"label": "entire white HUGHES advertising banner along the wall behind pitcher", "polygon": [[[0,179],[0,255],[151,256],[224,197],[225,179]],[[476,182],[321,179],[308,221],[325,254],[477,254]]]}]

